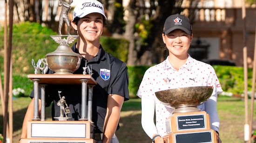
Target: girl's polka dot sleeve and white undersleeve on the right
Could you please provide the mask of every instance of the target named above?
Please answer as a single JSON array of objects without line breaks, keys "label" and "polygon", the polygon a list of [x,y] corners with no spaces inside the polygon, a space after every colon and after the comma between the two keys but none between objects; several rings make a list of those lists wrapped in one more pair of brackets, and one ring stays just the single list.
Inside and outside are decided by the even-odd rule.
[{"label": "girl's polka dot sleeve and white undersleeve on the right", "polygon": [[205,102],[205,111],[210,116],[211,129],[219,131],[220,119],[217,113],[217,96],[222,92],[220,82],[216,76],[214,68],[210,72],[208,84],[213,86],[213,93],[211,97]]}]

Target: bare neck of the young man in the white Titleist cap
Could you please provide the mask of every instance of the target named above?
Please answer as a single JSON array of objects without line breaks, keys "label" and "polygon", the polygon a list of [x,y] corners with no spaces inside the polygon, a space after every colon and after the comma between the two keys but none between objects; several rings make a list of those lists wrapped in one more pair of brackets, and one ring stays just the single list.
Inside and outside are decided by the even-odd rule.
[{"label": "bare neck of the young man in the white Titleist cap", "polygon": [[84,43],[84,42],[81,42],[80,39],[78,39],[76,48],[79,51],[79,53],[81,54],[81,56],[83,56],[84,58],[86,58],[89,61],[94,56],[96,56],[97,53],[99,52],[100,43],[97,43],[97,44],[88,43],[88,42]]}]

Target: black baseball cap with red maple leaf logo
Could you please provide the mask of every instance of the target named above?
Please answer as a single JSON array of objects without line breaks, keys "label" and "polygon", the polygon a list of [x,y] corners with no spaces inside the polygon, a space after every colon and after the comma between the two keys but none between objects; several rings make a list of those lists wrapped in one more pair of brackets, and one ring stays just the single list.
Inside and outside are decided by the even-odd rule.
[{"label": "black baseball cap with red maple leaf logo", "polygon": [[192,34],[192,26],[189,22],[189,18],[180,14],[170,15],[164,22],[163,33],[168,34],[176,29],[181,29],[189,35]]}]

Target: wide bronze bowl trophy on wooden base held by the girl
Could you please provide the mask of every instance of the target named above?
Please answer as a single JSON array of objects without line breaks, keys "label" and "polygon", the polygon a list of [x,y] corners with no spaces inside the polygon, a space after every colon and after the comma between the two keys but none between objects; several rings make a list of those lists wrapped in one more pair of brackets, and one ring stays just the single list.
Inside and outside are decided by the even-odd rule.
[{"label": "wide bronze bowl trophy on wooden base held by the girl", "polygon": [[164,143],[218,143],[209,114],[197,108],[212,92],[213,87],[183,87],[155,93],[162,104],[175,108],[165,122]]}]

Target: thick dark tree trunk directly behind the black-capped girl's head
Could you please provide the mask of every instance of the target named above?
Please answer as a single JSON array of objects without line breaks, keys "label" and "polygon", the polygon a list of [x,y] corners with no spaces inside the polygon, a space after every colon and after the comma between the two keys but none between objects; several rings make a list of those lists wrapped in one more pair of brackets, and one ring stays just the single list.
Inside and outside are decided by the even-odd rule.
[{"label": "thick dark tree trunk directly behind the black-capped girl's head", "polygon": [[[138,65],[152,65],[162,62],[168,53],[166,53],[165,45],[162,42],[162,31],[165,19],[177,12],[173,9],[175,0],[159,0],[158,6],[155,6],[155,15],[152,17],[151,34],[147,39],[147,46],[142,46],[138,51]],[[129,58],[129,57],[128,57]]]}]

